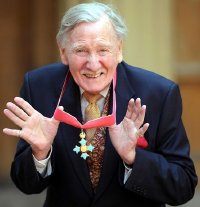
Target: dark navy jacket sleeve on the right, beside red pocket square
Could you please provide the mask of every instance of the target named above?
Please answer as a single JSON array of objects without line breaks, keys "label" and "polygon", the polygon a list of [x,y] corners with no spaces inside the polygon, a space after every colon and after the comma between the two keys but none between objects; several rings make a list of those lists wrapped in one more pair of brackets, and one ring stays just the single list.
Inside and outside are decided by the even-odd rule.
[{"label": "dark navy jacket sleeve on the right, beside red pocket square", "polygon": [[176,84],[171,85],[160,114],[154,147],[136,149],[125,188],[160,203],[180,205],[193,197],[197,176],[181,120],[182,103]]}]

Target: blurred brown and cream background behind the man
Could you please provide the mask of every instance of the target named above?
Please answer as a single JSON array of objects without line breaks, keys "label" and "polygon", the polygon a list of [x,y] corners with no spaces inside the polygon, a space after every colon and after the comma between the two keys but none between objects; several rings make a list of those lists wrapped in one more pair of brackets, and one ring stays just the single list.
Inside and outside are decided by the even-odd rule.
[{"label": "blurred brown and cream background behind the man", "polygon": [[[44,193],[24,195],[10,180],[15,137],[2,133],[13,125],[3,115],[18,96],[24,73],[59,61],[55,36],[60,18],[84,0],[0,1],[0,207],[40,207]],[[120,11],[128,26],[124,60],[177,82],[191,156],[200,175],[200,0],[104,0]],[[184,206],[199,206],[199,186]]]}]

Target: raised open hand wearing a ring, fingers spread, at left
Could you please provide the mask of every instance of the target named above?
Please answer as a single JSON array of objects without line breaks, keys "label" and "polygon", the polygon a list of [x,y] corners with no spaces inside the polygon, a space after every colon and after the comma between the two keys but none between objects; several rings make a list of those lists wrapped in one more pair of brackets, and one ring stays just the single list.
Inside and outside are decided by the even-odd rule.
[{"label": "raised open hand wearing a ring, fingers spread, at left", "polygon": [[20,129],[4,128],[7,135],[16,136],[28,142],[36,159],[45,159],[56,136],[59,122],[53,117],[44,117],[28,102],[15,97],[8,102],[4,114]]}]

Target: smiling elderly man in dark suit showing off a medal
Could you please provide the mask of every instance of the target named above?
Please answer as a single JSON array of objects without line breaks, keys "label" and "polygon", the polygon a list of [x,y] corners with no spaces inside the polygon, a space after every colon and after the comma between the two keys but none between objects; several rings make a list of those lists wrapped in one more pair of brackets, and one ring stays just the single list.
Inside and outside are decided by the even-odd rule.
[{"label": "smiling elderly man in dark suit showing off a medal", "polygon": [[20,129],[3,131],[21,138],[11,177],[27,194],[47,188],[45,207],[161,207],[193,197],[179,89],[122,61],[125,35],[109,6],[71,8],[57,35],[62,64],[28,72],[21,97],[7,103]]}]

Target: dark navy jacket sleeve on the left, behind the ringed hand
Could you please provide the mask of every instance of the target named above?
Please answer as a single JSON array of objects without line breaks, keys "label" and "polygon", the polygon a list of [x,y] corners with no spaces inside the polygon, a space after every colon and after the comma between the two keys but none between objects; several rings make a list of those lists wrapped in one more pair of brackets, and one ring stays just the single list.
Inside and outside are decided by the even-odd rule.
[{"label": "dark navy jacket sleeve on the left, behind the ringed hand", "polygon": [[[32,105],[28,73],[25,75],[20,96]],[[15,158],[11,165],[11,178],[15,185],[27,194],[40,193],[51,180],[51,176],[43,178],[37,172],[31,147],[22,139],[18,142]]]}]

